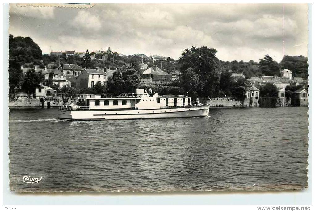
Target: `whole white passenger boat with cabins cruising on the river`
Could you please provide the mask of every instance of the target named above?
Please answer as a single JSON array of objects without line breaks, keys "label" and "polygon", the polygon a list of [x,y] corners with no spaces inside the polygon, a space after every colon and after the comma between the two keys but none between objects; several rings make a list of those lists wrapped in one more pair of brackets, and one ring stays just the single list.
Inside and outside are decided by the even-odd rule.
[{"label": "whole white passenger boat with cabins cruising on the river", "polygon": [[158,95],[137,89],[136,94],[79,95],[78,102],[59,108],[58,119],[109,120],[199,117],[209,114],[209,104],[184,95]]}]

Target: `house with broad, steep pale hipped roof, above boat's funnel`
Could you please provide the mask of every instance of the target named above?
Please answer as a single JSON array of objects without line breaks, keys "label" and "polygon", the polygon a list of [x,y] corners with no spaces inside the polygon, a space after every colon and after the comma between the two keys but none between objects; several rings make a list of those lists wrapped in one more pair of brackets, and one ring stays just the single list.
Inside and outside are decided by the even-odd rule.
[{"label": "house with broad, steep pale hipped roof, above boat's funnel", "polygon": [[145,84],[158,84],[163,82],[171,82],[172,74],[168,74],[156,65],[146,69],[141,73],[141,83]]}]

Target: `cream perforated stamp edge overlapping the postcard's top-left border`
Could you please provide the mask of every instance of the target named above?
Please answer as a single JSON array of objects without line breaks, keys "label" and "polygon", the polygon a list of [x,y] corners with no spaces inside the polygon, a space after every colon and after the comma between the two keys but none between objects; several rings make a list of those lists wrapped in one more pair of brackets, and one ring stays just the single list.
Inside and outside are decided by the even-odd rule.
[{"label": "cream perforated stamp edge overlapping the postcard's top-left border", "polygon": [[95,3],[16,3],[17,7],[91,8]]}]

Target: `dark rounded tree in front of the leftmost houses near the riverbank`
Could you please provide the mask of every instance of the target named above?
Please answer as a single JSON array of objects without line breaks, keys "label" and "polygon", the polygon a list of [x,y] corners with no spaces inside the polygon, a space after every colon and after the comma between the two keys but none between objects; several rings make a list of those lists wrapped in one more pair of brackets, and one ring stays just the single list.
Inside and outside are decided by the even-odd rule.
[{"label": "dark rounded tree in front of the leftmost houses near the riverbank", "polygon": [[28,70],[24,77],[24,82],[22,84],[22,90],[27,94],[32,94],[35,92],[35,88],[43,81],[43,75],[40,71],[39,73],[35,70]]}]

